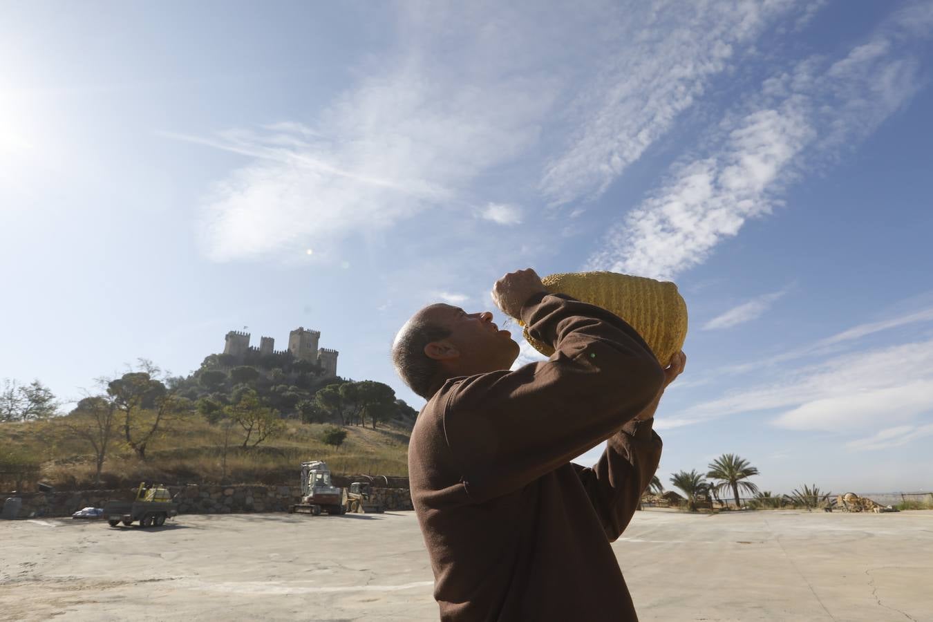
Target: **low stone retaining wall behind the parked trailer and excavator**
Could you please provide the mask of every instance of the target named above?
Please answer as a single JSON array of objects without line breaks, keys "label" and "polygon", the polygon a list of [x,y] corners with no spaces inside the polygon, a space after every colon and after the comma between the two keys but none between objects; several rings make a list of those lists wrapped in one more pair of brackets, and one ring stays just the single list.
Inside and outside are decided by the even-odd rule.
[{"label": "low stone retaining wall behind the parked trailer and excavator", "polygon": [[[179,489],[170,486],[174,494]],[[0,493],[0,503],[7,497],[20,497],[19,518],[69,517],[82,507],[104,507],[108,499],[132,501],[135,490]],[[298,486],[186,486],[175,498],[179,514],[231,514],[246,512],[287,512],[299,503]],[[392,510],[411,510],[408,489],[374,488],[370,503]]]}]

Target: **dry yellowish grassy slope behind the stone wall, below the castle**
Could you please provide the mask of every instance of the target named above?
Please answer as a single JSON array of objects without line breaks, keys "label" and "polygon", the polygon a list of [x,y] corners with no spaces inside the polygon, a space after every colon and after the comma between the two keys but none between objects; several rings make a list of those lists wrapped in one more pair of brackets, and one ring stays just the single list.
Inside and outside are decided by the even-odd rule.
[{"label": "dry yellowish grassy slope behind the stone wall, below the castle", "polygon": [[[175,423],[170,432],[150,443],[145,463],[117,437],[104,463],[102,485],[119,488],[142,480],[220,483],[221,479],[224,483],[297,484],[299,463],[308,460],[325,460],[339,475],[408,475],[409,431],[350,426],[344,428],[347,437],[343,445],[333,448],[319,440],[324,427],[287,422],[285,433],[253,449],[239,447],[243,435],[240,428],[234,427],[224,478],[222,428],[192,416]],[[0,455],[8,449],[42,463],[42,481],[58,488],[87,488],[93,482],[92,449],[63,435],[55,422],[0,423]],[[8,488],[7,482],[0,482],[0,490]]]}]

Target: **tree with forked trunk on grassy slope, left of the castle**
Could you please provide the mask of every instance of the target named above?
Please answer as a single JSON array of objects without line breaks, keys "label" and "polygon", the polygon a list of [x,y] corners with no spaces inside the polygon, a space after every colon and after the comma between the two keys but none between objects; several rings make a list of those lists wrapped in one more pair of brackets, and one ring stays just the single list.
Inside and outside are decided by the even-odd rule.
[{"label": "tree with forked trunk on grassy slope, left of the castle", "polygon": [[106,382],[107,395],[117,408],[123,437],[140,460],[146,460],[149,442],[188,405],[188,400],[170,392],[152,378],[159,368],[140,360],[147,371],[134,371]]}]

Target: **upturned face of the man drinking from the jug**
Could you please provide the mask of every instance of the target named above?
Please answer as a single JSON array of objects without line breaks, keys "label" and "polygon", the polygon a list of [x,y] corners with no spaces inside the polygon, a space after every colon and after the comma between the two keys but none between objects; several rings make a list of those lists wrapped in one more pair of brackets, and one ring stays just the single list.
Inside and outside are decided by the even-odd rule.
[{"label": "upturned face of the man drinking from the jug", "polygon": [[499,329],[490,311],[467,313],[460,307],[437,304],[425,312],[432,321],[451,330],[451,335],[439,343],[453,348],[457,355],[441,362],[457,375],[508,369],[519,355],[519,344],[508,330]]}]

